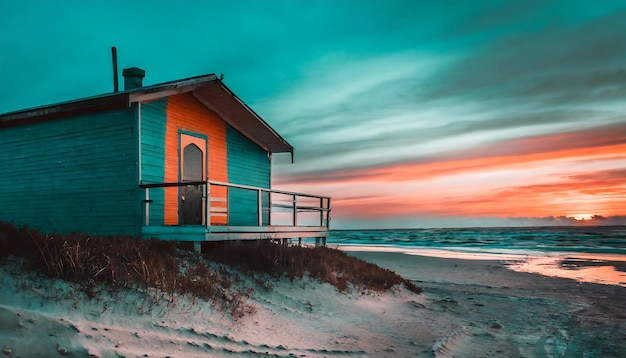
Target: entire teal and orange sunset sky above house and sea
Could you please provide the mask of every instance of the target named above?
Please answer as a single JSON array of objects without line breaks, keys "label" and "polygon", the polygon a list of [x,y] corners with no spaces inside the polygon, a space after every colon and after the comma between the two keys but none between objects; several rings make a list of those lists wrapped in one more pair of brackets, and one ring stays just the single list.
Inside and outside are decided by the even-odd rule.
[{"label": "entire teal and orange sunset sky above house and sea", "polygon": [[626,2],[0,0],[0,113],[224,82],[332,228],[626,224]]}]

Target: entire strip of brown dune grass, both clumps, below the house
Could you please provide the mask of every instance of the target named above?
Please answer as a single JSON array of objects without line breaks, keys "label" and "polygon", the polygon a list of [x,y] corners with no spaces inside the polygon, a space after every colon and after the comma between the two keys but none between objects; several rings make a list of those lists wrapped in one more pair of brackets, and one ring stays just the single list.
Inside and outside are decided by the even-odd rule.
[{"label": "entire strip of brown dune grass, both clumps, below the house", "polygon": [[[241,272],[263,279],[305,275],[328,282],[340,291],[351,287],[385,291],[403,284],[421,288],[392,271],[326,247],[280,245],[269,241],[216,245],[203,256],[180,250],[174,242],[134,237],[100,237],[80,233],[42,234],[26,227],[0,223],[0,262],[8,256],[24,258],[30,269],[75,282],[90,297],[98,289],[151,289],[161,298],[191,294],[212,301],[233,317],[251,308],[245,304],[252,292]],[[263,287],[271,287],[260,282]]]}]

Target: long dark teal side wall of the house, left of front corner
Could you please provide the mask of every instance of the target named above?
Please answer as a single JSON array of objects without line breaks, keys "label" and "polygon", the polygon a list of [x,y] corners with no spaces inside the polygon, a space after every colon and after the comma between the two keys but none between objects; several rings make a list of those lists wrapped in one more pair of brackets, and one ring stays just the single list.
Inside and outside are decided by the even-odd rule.
[{"label": "long dark teal side wall of the house, left of front corner", "polygon": [[137,235],[134,109],[2,129],[0,221],[43,232]]}]

